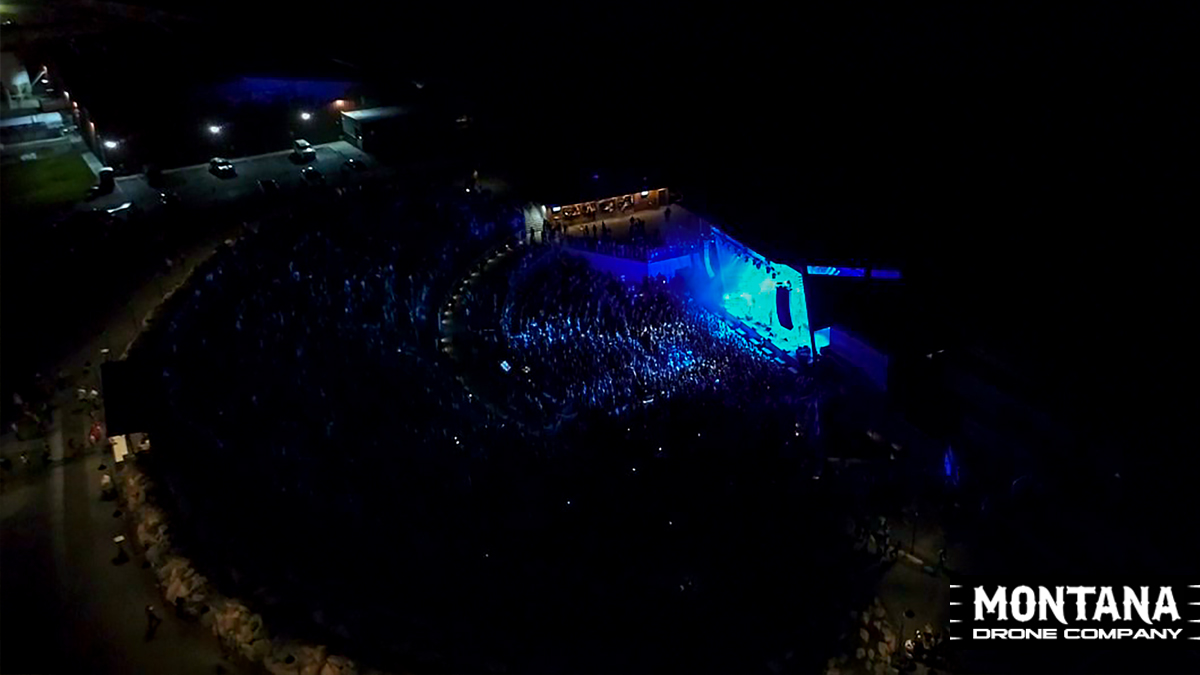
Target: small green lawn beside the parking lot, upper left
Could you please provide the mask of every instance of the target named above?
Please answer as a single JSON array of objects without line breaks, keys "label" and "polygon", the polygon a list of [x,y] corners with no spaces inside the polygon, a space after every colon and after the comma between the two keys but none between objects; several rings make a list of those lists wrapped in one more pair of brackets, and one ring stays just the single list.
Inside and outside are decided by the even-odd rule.
[{"label": "small green lawn beside the parking lot, upper left", "polygon": [[0,198],[5,210],[59,207],[83,199],[95,183],[96,177],[78,154],[55,155],[0,168]]}]

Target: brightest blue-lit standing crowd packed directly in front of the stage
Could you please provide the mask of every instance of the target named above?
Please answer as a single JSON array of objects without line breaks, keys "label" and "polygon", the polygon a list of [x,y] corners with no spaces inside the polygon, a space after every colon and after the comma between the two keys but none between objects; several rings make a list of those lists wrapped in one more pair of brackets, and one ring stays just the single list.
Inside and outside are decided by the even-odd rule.
[{"label": "brightest blue-lit standing crowd packed directly in front of the stage", "polygon": [[[661,276],[631,286],[580,258],[554,256],[506,307],[514,365],[529,366],[529,378],[554,401],[614,413],[702,392],[796,389],[794,374],[680,291]],[[788,400],[781,394],[779,404]]]}]

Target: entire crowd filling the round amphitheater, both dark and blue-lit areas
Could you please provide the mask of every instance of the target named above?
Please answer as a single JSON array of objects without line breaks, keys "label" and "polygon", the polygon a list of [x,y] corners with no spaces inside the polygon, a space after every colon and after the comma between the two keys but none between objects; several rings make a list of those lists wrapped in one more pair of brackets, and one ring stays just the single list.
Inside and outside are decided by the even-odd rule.
[{"label": "entire crowd filling the round amphitheater, both dark and blue-lit areas", "polygon": [[[768,531],[812,508],[782,491],[808,470],[778,452],[802,441],[808,380],[662,280],[625,286],[557,247],[505,247],[517,213],[458,192],[264,225],[172,298],[130,358],[162,374],[169,401],[144,461],[173,543],[272,631],[316,631],[367,662],[666,665],[589,651],[616,621],[659,626],[655,650],[677,664],[695,635],[724,635],[736,668],[740,632],[767,628],[720,617],[746,583],[797,580],[684,551],[715,536],[748,561],[791,555]],[[458,304],[473,339],[450,358],[438,322],[473,271]],[[648,458],[692,464],[638,472]]]}]

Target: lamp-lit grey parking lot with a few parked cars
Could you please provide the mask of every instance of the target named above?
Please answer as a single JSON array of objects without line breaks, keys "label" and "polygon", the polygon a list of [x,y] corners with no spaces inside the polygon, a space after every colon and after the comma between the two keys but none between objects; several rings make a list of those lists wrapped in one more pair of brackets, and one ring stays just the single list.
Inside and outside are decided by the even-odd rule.
[{"label": "lamp-lit grey parking lot with a few parked cars", "polygon": [[[113,193],[83,202],[77,209],[83,211],[110,209],[132,202],[136,208],[152,211],[161,208],[158,198],[161,192],[173,192],[182,207],[216,205],[257,195],[259,180],[275,180],[280,185],[281,195],[312,190],[313,187],[300,175],[300,171],[305,167],[319,171],[329,187],[354,185],[385,171],[370,155],[344,141],[313,148],[317,150],[316,157],[305,163],[298,162],[292,150],[232,159],[238,172],[235,177],[220,178],[209,172],[209,165],[197,165],[164,171],[162,187],[151,187],[142,174],[119,178]],[[362,171],[346,167],[346,161],[352,159],[362,163]]]}]

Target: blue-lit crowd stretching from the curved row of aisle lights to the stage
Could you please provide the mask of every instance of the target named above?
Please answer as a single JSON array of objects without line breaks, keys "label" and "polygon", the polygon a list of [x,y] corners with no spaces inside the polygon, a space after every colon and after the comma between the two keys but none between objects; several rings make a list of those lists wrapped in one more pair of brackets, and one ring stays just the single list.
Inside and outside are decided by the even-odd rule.
[{"label": "blue-lit crowd stretching from the curved row of aisle lights to the stage", "polygon": [[638,418],[653,435],[672,399],[719,402],[792,441],[811,429],[804,366],[763,351],[679,276],[628,283],[562,249],[523,246],[475,270],[462,303],[458,357],[533,429],[584,414]]}]

